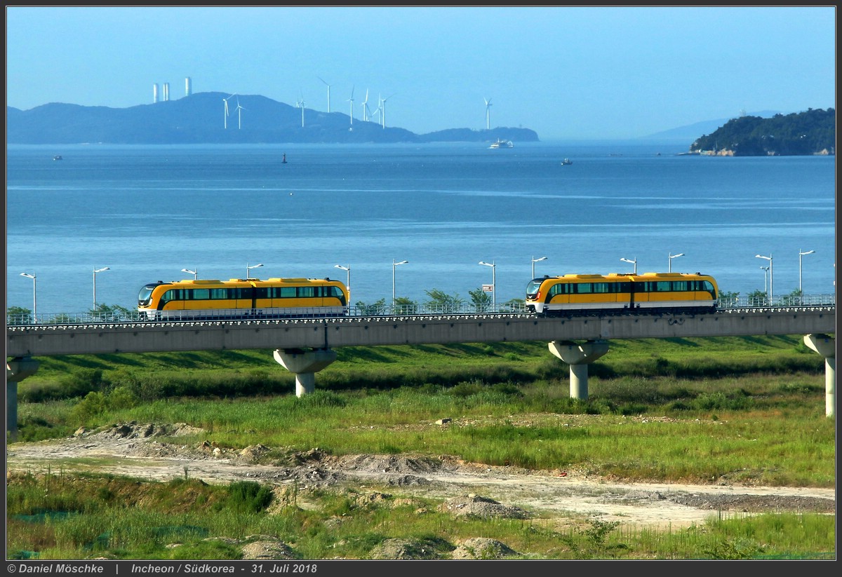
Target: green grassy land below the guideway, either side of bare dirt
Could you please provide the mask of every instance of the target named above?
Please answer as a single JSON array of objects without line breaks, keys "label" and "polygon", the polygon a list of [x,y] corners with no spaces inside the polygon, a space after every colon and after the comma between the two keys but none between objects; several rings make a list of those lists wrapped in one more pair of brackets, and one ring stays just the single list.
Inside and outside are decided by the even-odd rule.
[{"label": "green grassy land below the guideway, either side of bare dirt", "polygon": [[[317,374],[317,393],[301,399],[270,351],[43,358],[39,373],[20,385],[20,437],[60,437],[77,426],[121,421],[187,422],[205,429],[192,441],[222,447],[452,454],[626,480],[835,484],[835,420],[824,415],[823,359],[797,336],[612,341],[611,352],[589,367],[586,401],[569,399],[568,367],[542,342],[338,354]],[[456,426],[433,425],[443,417]],[[440,513],[418,516],[418,503],[405,510],[360,507],[354,495],[327,493],[318,512],[288,507],[269,516],[258,505],[247,515],[235,512],[242,495],[232,497],[230,487],[189,479],[146,484],[152,493],[184,500],[180,506],[159,497],[161,504],[126,508],[109,490],[88,506],[71,498],[82,494],[78,487],[57,506],[45,502],[45,482],[33,477],[20,493],[10,487],[9,513],[84,511],[83,527],[71,530],[71,521],[62,521],[49,535],[29,535],[29,525],[13,522],[10,550],[14,543],[21,551],[76,558],[97,547],[94,537],[106,527],[120,535],[106,539],[109,554],[141,558],[236,558],[224,545],[201,544],[205,532],[278,535],[301,543],[303,558],[365,558],[372,543],[399,535],[443,543],[494,535],[516,550],[541,551],[541,558],[815,558],[834,548],[833,518],[812,514],[711,519],[703,530],[666,534],[579,520],[560,532],[537,521],[454,524]],[[108,486],[121,482],[109,479]],[[349,516],[341,530],[324,522],[337,515]],[[163,548],[173,536],[141,545],[142,534],[161,526],[201,530],[184,537],[192,544],[180,553]],[[38,539],[45,547],[36,546]]]}]

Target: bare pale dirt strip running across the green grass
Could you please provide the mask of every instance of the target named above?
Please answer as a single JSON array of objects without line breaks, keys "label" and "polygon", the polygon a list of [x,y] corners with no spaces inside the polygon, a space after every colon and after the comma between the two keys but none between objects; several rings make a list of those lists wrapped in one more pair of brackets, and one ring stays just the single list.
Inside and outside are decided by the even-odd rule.
[{"label": "bare pale dirt strip running across the green grass", "polygon": [[[184,424],[124,423],[50,442],[7,447],[7,473],[81,470],[138,479],[189,475],[206,483],[256,480],[308,488],[354,487],[434,497],[458,515],[568,516],[647,527],[689,527],[710,516],[762,512],[835,512],[835,490],[718,484],[616,483],[575,470],[530,471],[465,463],[449,456],[349,455],[319,449],[268,463],[269,447],[239,450],[179,444],[200,433]],[[195,437],[194,437],[195,438]],[[173,442],[175,441],[175,442]]]}]

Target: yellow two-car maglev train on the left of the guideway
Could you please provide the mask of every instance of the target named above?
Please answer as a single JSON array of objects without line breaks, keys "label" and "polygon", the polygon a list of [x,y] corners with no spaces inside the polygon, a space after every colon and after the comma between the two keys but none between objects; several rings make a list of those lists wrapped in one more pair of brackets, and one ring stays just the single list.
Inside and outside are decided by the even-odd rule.
[{"label": "yellow two-car maglev train on the left of the guideway", "polygon": [[137,310],[147,320],[341,316],[348,288],[330,278],[158,281],[143,286]]}]

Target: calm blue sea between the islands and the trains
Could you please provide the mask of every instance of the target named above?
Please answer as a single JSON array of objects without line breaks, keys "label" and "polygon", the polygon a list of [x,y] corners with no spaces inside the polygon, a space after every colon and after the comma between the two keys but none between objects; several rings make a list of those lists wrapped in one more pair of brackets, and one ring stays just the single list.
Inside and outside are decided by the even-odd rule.
[{"label": "calm blue sea between the islands and the trains", "polygon": [[539,257],[538,276],[631,272],[626,258],[743,295],[789,294],[799,271],[805,294],[835,292],[834,156],[487,146],[9,146],[7,306],[33,305],[20,273],[41,315],[90,310],[94,276],[99,303],[134,309],[143,284],[191,278],[182,268],[227,279],[256,264],[252,277],[346,281],[335,265],[350,267],[352,303],[391,301],[393,281],[418,303],[493,283],[503,303]]}]

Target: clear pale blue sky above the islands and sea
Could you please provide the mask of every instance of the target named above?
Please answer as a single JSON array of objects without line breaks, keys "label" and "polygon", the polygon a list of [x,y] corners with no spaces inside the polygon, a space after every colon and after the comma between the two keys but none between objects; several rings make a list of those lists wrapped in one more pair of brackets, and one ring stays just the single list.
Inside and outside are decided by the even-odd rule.
[{"label": "clear pale blue sky above the islands and sea", "polygon": [[386,124],[636,138],[741,110],[835,107],[833,6],[6,7],[7,104],[259,94]]}]

